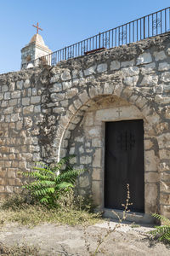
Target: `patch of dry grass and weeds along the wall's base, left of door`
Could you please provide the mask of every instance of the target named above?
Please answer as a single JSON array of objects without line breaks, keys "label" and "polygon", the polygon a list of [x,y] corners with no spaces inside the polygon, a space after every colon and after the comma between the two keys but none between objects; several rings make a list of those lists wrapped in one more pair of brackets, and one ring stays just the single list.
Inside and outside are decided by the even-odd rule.
[{"label": "patch of dry grass and weeds along the wall's base, left of door", "polygon": [[20,195],[14,195],[0,205],[0,225],[8,222],[35,226],[42,223],[55,224],[95,224],[101,221],[99,213],[87,212],[76,204],[74,192],[65,193],[59,198],[60,207],[48,208],[38,202],[30,204]]}]

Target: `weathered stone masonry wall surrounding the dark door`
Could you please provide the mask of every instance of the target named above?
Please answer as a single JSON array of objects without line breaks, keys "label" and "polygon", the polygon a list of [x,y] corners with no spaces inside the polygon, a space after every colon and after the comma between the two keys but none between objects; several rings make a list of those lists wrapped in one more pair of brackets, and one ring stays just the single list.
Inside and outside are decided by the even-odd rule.
[{"label": "weathered stone masonry wall surrounding the dark door", "polygon": [[169,91],[169,34],[0,75],[1,196],[34,161],[77,154],[79,191],[102,208],[105,121],[144,119],[145,212],[170,217]]}]

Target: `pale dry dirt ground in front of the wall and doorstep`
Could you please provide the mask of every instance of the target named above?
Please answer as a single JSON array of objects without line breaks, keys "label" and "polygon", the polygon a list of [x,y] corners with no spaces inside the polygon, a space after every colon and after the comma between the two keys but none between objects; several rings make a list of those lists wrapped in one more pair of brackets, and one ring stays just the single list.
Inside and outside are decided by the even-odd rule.
[{"label": "pale dry dirt ground in front of the wall and doorstep", "polygon": [[[110,222],[111,229],[116,225]],[[39,247],[40,255],[89,255],[85,240],[94,253],[99,236],[105,236],[108,223],[94,224],[86,229],[80,226],[42,224],[34,228],[6,224],[0,228],[0,242],[6,246],[25,244]],[[100,247],[102,253],[97,255],[170,255],[170,247],[161,242],[149,241],[144,232],[151,230],[149,227],[137,227],[122,224],[120,228],[111,233]],[[142,234],[141,234],[142,232]],[[86,238],[84,238],[86,237]]]}]

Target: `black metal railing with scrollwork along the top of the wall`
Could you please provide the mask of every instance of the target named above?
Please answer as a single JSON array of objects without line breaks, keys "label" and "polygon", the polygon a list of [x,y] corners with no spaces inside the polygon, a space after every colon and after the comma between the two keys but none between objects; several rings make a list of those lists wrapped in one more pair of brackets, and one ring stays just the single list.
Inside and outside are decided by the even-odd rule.
[{"label": "black metal railing with scrollwork along the top of the wall", "polygon": [[[146,15],[137,20],[127,22],[122,26],[116,26],[105,32],[84,39],[76,44],[71,44],[63,49],[54,51],[30,61],[33,66],[43,64],[56,65],[59,61],[65,61],[81,55],[88,55],[100,49],[109,49],[122,44],[130,44],[139,40],[154,37],[162,33],[170,32],[170,7],[161,9],[153,14]],[[22,65],[26,68],[28,63]]]}]

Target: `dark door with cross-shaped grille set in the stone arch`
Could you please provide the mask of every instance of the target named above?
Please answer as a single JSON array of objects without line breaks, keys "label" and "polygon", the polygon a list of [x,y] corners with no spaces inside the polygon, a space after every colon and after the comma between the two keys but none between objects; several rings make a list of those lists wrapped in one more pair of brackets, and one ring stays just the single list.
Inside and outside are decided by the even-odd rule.
[{"label": "dark door with cross-shaped grille set in the stone arch", "polygon": [[105,123],[105,207],[144,212],[144,124],[142,119]]}]

